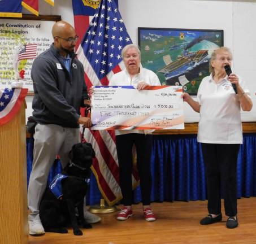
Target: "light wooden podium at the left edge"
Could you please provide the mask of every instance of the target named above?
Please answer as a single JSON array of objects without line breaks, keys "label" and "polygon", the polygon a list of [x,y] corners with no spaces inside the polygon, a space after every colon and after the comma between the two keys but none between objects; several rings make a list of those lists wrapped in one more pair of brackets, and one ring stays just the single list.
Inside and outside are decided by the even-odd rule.
[{"label": "light wooden podium at the left edge", "polygon": [[0,243],[28,243],[25,101],[0,125]]}]

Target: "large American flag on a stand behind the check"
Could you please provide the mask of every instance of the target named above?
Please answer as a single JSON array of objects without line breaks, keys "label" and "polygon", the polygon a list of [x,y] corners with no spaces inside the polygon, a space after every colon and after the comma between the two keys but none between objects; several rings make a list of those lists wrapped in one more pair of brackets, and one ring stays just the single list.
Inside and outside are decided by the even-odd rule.
[{"label": "large American flag on a stand behind the check", "polygon": [[[73,0],[74,2],[74,0]],[[108,85],[114,73],[124,69],[121,51],[132,43],[114,0],[102,0],[77,50],[90,86]],[[122,198],[114,130],[85,130],[84,138],[96,151],[93,172],[99,190],[109,205]],[[137,171],[133,182],[138,181]]]}]

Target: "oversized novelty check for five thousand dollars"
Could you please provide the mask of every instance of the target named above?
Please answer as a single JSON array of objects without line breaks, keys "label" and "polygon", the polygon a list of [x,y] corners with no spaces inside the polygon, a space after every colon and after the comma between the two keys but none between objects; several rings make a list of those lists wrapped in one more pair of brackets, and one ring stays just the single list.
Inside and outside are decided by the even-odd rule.
[{"label": "oversized novelty check for five thousand dollars", "polygon": [[92,129],[184,129],[182,86],[96,86]]}]

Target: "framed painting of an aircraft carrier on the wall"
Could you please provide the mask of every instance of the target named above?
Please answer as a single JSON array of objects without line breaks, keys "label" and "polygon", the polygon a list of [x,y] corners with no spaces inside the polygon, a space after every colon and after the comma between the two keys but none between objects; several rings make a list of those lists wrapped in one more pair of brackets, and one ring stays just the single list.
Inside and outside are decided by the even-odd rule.
[{"label": "framed painting of an aircraft carrier on the wall", "polygon": [[141,64],[154,71],[162,85],[182,85],[196,95],[209,76],[212,51],[223,46],[223,30],[138,28]]}]

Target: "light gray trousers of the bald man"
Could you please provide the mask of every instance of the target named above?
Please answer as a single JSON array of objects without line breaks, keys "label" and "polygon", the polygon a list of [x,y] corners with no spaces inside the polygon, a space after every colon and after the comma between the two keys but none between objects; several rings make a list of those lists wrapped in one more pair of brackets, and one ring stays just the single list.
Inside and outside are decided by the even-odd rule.
[{"label": "light gray trousers of the bald man", "polygon": [[80,142],[78,128],[64,128],[55,124],[37,124],[34,133],[34,159],[28,185],[29,219],[39,218],[39,205],[46,189],[47,177],[57,154],[66,167],[68,152]]}]

